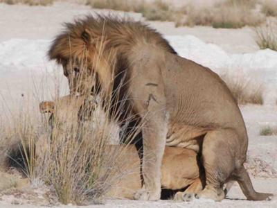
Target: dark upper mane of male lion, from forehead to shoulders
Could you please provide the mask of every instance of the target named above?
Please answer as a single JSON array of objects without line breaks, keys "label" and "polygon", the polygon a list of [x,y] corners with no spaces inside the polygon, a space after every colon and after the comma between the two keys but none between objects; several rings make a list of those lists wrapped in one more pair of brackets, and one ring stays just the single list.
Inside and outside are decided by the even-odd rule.
[{"label": "dark upper mane of male lion, from forehead to shoulders", "polygon": [[127,17],[87,15],[83,19],[75,19],[73,23],[66,23],[64,26],[64,31],[57,35],[48,51],[48,57],[51,60],[59,61],[71,55],[81,55],[85,46],[82,38],[84,31],[89,31],[94,42],[105,37],[108,48],[121,47],[128,50],[130,46],[144,42],[155,44],[162,50],[176,54],[176,51],[159,32],[141,21],[134,21]]}]

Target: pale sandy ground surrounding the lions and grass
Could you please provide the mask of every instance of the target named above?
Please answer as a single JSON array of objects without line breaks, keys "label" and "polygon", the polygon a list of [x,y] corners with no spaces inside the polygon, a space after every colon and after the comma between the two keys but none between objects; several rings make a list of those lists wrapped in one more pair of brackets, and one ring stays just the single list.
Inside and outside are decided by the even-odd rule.
[{"label": "pale sandy ground surrounding the lions and grass", "polygon": [[[181,3],[181,1],[176,0],[175,5],[179,5],[178,3]],[[88,12],[103,12],[107,14],[111,11],[91,10],[88,6],[78,6],[75,3],[55,3],[54,6],[51,7],[8,6],[0,3],[0,46],[3,46],[4,42],[12,40],[12,43],[9,45],[12,50],[19,51],[20,49],[17,45],[19,43],[22,47],[30,47],[28,48],[30,51],[29,56],[36,57],[35,55],[37,55],[37,57],[41,57],[43,55],[42,53],[46,51],[45,47],[49,40],[52,40],[53,37],[62,30],[62,22],[71,21],[75,17],[80,17]],[[127,15],[143,21],[143,17],[139,14],[125,12],[117,13],[118,15]],[[175,28],[172,23],[148,22],[148,24],[157,28],[163,35],[166,35],[166,37],[172,40],[175,49],[181,52],[180,55],[184,57],[190,55],[190,58],[195,58],[196,60],[199,58],[199,61],[203,62],[202,64],[211,67],[215,71],[222,70],[222,66],[217,68],[213,65],[212,61],[213,58],[220,56],[220,54],[221,57],[225,55],[230,58],[230,60],[233,60],[236,58],[235,55],[257,52],[257,57],[260,58],[262,56],[261,53],[264,53],[264,51],[258,51],[258,46],[253,40],[254,34],[251,28],[237,30],[198,26],[194,28]],[[173,37],[172,35],[179,36]],[[182,49],[185,45],[187,47],[189,46],[188,42],[190,40],[191,42],[195,40],[193,37],[185,37],[185,35],[193,35],[193,37],[197,37],[203,42],[202,44],[199,40],[196,40],[196,42],[199,42],[200,46],[199,49],[197,49],[198,51],[186,51],[186,49]],[[20,40],[17,42],[16,39]],[[32,41],[34,40],[37,40],[37,42],[33,43]],[[33,47],[32,45],[39,43],[41,44],[40,48],[37,48],[37,46]],[[205,49],[217,51],[218,53],[208,54],[207,58],[204,59],[205,54],[200,53],[203,51],[203,47],[205,47]],[[46,59],[45,62],[47,63],[45,64],[43,62],[28,63],[28,58],[26,58],[26,60],[22,58],[28,57],[24,49],[22,49],[22,51],[24,51],[23,53],[25,54],[21,54],[19,57],[18,55],[17,57],[13,57],[12,50],[9,56],[10,59],[14,61],[10,62],[6,60],[6,62],[3,61],[4,63],[0,64],[0,96],[5,97],[5,101],[1,100],[1,105],[7,104],[20,107],[18,103],[26,100],[28,92],[34,92],[30,96],[35,97],[35,99],[39,101],[51,98],[56,79],[60,80],[59,83],[62,83],[62,94],[66,94],[66,80],[62,76],[62,73],[60,73],[58,69],[57,71],[59,72],[57,73],[53,73],[52,69],[50,70],[50,68],[55,67],[55,65],[48,63]],[[241,56],[242,59],[247,59],[245,58],[247,54],[246,56]],[[277,170],[277,137],[259,136],[259,131],[262,126],[277,125],[277,105],[274,104],[277,98],[277,65],[269,64],[270,62],[274,62],[275,56],[274,53],[272,53],[273,56],[268,54],[269,53],[265,54],[265,57],[268,58],[265,65],[268,67],[256,69],[255,66],[243,65],[243,68],[247,69],[247,74],[251,76],[251,78],[257,79],[265,85],[265,105],[246,105],[241,106],[240,109],[242,110],[249,132],[248,154],[251,158],[256,159],[255,161],[249,162],[249,164],[257,166],[257,161],[262,161],[262,164],[258,166],[258,170],[256,168],[251,172],[253,175],[256,175],[256,177],[252,176],[254,187],[257,191],[266,191],[277,195],[277,175],[275,175],[275,177],[272,176],[275,173],[269,174],[270,171],[274,172]],[[7,54],[3,54],[0,51],[0,56],[1,55]],[[224,60],[222,62],[224,62]],[[209,64],[211,64],[211,66],[209,66]],[[259,63],[257,62],[257,64]],[[47,68],[49,68],[49,70]],[[238,71],[234,70],[234,73],[238,73]],[[36,87],[34,87],[34,85]],[[22,94],[24,94],[24,96],[22,96]],[[2,200],[0,200],[0,207],[19,207],[18,204],[20,204],[20,202],[14,201],[16,197],[10,197],[10,200],[8,200],[8,198],[2,198]],[[109,200],[105,202],[105,205],[91,205],[90,207],[277,207],[276,199],[269,202],[249,202],[244,200],[244,196],[238,184],[235,184],[231,189],[228,198],[222,202],[211,202],[206,200],[189,203],[172,201],[138,202],[130,200]],[[22,205],[22,207],[29,208],[37,206]]]}]

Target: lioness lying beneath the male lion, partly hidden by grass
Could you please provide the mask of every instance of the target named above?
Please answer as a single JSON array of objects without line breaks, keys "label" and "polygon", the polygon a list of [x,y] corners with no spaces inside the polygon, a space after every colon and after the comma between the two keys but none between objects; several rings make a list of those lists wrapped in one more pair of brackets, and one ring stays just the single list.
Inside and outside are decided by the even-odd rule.
[{"label": "lioness lying beneath the male lion, partly hidden by grass", "polygon": [[[55,120],[55,125],[62,131],[66,123],[78,123],[78,112],[83,101],[84,96],[64,96],[59,98],[56,103],[52,101],[40,103],[39,110],[42,113],[50,113],[49,123]],[[96,109],[96,107],[95,105],[93,109]],[[104,127],[108,128],[107,125]],[[113,175],[117,180],[112,183],[106,196],[133,199],[134,193],[141,189],[139,155],[132,144],[129,146],[110,145],[106,147],[107,153],[115,150],[122,152],[127,157],[116,158],[116,163],[113,165]],[[41,150],[37,152],[41,152]],[[161,186],[164,189],[177,190],[188,186],[186,192],[201,191],[203,189],[199,178],[201,171],[197,164],[197,153],[194,150],[167,147],[163,155],[162,164]],[[123,175],[121,176],[120,174]],[[116,175],[120,177],[116,177]]]}]

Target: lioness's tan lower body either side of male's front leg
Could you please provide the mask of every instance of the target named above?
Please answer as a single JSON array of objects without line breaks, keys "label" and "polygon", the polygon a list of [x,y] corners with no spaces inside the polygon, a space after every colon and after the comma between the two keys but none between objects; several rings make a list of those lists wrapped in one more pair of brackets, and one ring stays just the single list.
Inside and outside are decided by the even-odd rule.
[{"label": "lioness's tan lower body either side of male's front leg", "polygon": [[[112,148],[120,148],[120,146],[113,146]],[[115,171],[114,175],[127,174],[114,182],[111,189],[107,192],[108,197],[134,199],[136,191],[141,189],[140,159],[136,148],[133,145],[129,145],[127,150],[125,150],[125,155],[127,157],[120,157],[117,161],[116,166],[120,167],[120,171]],[[166,147],[161,166],[162,188],[175,190],[192,184],[188,187],[188,191],[201,191],[203,187],[202,182],[199,180],[196,156],[197,154],[193,150]],[[173,163],[172,159],[174,160]],[[118,168],[113,169],[119,170]],[[181,194],[181,197],[183,195],[184,193]],[[181,197],[176,198],[176,200],[182,200]]]}]

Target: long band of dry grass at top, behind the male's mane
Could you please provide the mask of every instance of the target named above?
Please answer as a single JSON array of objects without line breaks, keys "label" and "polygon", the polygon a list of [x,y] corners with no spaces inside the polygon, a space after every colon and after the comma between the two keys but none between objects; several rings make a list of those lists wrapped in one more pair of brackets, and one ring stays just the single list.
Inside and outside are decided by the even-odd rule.
[{"label": "long band of dry grass at top, behind the male's mane", "polygon": [[256,0],[226,0],[213,6],[189,3],[174,8],[162,0],[132,2],[128,0],[88,0],[93,8],[140,12],[152,21],[175,21],[176,26],[213,26],[214,28],[242,28],[257,26],[264,17],[255,10]]}]

